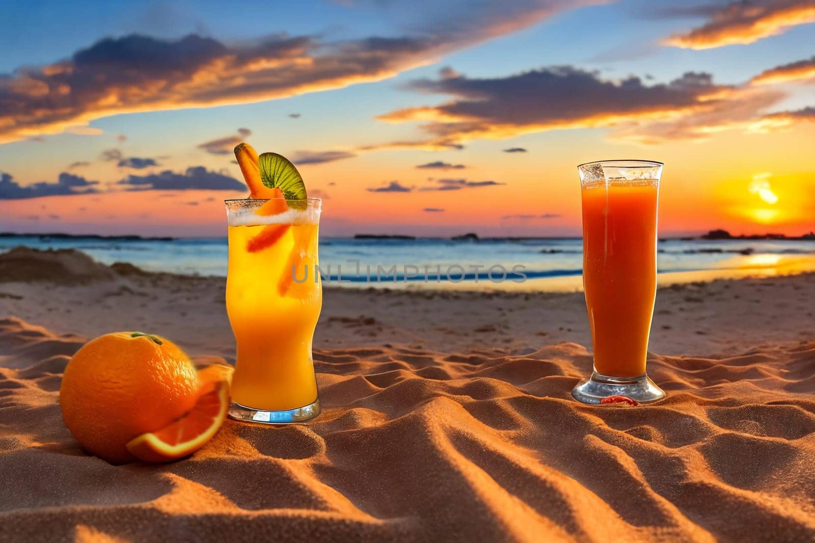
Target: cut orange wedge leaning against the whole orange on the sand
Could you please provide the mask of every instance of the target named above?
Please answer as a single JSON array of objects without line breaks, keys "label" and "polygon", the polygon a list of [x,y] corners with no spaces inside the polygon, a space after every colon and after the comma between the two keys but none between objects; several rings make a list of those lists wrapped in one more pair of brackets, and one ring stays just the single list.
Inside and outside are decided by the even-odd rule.
[{"label": "cut orange wedge leaning against the whole orange on the sand", "polygon": [[229,383],[206,383],[192,410],[161,430],[130,440],[127,450],[144,462],[172,462],[184,458],[212,439],[229,409]]}]

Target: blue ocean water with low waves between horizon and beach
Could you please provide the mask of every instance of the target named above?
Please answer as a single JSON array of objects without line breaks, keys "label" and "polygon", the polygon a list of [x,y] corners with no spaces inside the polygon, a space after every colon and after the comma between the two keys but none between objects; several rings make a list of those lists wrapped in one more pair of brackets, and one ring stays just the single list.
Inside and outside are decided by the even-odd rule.
[{"label": "blue ocean water with low waves between horizon and beach", "polygon": [[[0,237],[0,252],[19,245],[75,248],[105,264],[124,261],[149,271],[227,274],[226,238]],[[738,277],[751,272],[767,275],[815,270],[815,241],[811,240],[668,239],[659,242],[658,251],[659,273],[677,278],[705,271],[715,272],[716,277]],[[579,238],[319,241],[324,284],[346,287],[474,287],[478,282],[495,288],[518,290],[525,285],[526,290],[545,290],[547,284],[554,284],[543,281],[547,278],[576,278],[559,284],[579,287],[582,260],[583,242]]]}]

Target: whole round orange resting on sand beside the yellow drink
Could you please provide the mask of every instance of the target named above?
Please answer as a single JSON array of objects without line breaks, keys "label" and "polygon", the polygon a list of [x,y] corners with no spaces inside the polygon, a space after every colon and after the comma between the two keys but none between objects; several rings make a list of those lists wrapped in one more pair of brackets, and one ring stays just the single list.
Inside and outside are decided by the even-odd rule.
[{"label": "whole round orange resting on sand beside the yellow drink", "polygon": [[176,344],[157,335],[115,332],[75,355],[59,389],[65,426],[91,454],[133,460],[128,441],[172,423],[195,405],[196,369]]}]

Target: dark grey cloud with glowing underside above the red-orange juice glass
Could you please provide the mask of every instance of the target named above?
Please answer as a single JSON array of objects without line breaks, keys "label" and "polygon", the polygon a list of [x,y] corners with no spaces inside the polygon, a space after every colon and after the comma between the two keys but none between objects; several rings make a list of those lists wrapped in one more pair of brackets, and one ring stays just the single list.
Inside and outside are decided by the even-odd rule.
[{"label": "dark grey cloud with glowing underside above the red-orange juice glass", "polygon": [[[570,66],[542,68],[508,77],[465,76],[414,81],[409,88],[453,96],[439,106],[412,107],[379,118],[389,122],[424,121],[428,148],[472,139],[503,139],[553,129],[613,126],[615,137],[656,142],[698,139],[711,131],[755,117],[779,94],[715,85],[707,73],[687,72],[667,84],[645,84],[638,77],[604,81],[597,72]],[[650,129],[659,125],[665,131]],[[619,134],[618,134],[619,133]],[[393,146],[397,143],[391,144]],[[416,142],[412,143],[416,146]]]}]

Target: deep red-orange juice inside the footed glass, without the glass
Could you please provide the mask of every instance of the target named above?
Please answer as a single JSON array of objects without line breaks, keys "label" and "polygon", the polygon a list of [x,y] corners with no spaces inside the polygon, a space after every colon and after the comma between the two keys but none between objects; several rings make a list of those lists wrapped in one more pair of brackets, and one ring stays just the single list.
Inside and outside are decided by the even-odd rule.
[{"label": "deep red-orange juice inside the footed glass, without the glass", "polygon": [[656,296],[658,182],[589,184],[583,199],[583,284],[594,369],[645,374]]}]

